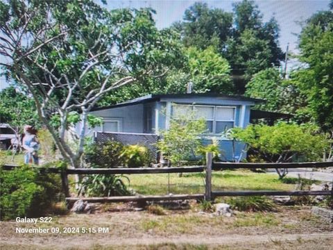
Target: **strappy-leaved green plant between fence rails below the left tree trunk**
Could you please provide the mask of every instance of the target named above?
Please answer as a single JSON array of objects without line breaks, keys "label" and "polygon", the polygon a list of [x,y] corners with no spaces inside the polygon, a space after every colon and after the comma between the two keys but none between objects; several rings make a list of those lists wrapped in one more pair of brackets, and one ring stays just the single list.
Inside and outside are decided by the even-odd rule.
[{"label": "strappy-leaved green plant between fence rails below the left tree trunk", "polygon": [[110,197],[129,195],[124,176],[114,174],[90,174],[78,183],[78,195],[87,197]]}]

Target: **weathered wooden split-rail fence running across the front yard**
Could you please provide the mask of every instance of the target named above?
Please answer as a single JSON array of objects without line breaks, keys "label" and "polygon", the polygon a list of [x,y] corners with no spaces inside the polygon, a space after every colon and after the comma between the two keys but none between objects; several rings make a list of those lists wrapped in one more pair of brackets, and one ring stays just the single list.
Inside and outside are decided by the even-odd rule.
[{"label": "weathered wooden split-rail fence running across the front yard", "polygon": [[[15,169],[16,165],[3,165],[5,170]],[[126,201],[165,201],[165,200],[184,200],[184,199],[205,199],[212,201],[216,197],[225,196],[283,196],[283,195],[332,195],[332,190],[293,190],[293,191],[271,191],[271,190],[235,190],[219,191],[212,190],[212,172],[223,169],[295,169],[295,168],[321,168],[333,167],[333,162],[323,163],[213,163],[212,153],[207,153],[206,165],[196,167],[146,167],[146,168],[77,168],[59,169],[56,167],[36,167],[40,172],[60,174],[62,178],[62,188],[65,192],[67,203],[74,203],[79,199],[89,202],[126,202]],[[205,172],[205,194],[170,194],[170,195],[139,195],[139,196],[120,196],[120,197],[70,197],[69,174],[171,174],[171,173],[200,173]]]}]

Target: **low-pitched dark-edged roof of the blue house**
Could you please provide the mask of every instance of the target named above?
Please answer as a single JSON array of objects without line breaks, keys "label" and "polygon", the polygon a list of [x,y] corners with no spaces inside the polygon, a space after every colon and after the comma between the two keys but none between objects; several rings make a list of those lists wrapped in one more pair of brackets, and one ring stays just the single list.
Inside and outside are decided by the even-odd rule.
[{"label": "low-pitched dark-edged roof of the blue house", "polygon": [[227,100],[235,100],[235,101],[253,101],[255,103],[264,102],[262,99],[255,99],[250,97],[243,97],[243,96],[236,96],[236,95],[228,95],[228,94],[215,94],[215,93],[202,93],[202,94],[147,94],[144,97],[135,98],[129,101],[124,101],[122,103],[110,105],[110,106],[103,106],[93,108],[92,111],[96,110],[104,110],[108,108],[119,108],[123,106],[130,106],[138,103],[148,103],[151,101],[160,101],[163,98],[186,98],[186,97],[219,97]]}]

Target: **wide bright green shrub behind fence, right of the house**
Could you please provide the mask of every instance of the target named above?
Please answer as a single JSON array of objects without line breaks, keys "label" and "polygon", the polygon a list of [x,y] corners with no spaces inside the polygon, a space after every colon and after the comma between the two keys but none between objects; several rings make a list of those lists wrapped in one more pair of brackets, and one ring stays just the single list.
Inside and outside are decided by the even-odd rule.
[{"label": "wide bright green shrub behind fence, right of the house", "polygon": [[250,125],[232,131],[233,138],[246,142],[268,162],[290,162],[294,156],[305,156],[307,161],[321,160],[329,147],[325,136],[316,134],[314,126],[281,122],[275,126]]}]

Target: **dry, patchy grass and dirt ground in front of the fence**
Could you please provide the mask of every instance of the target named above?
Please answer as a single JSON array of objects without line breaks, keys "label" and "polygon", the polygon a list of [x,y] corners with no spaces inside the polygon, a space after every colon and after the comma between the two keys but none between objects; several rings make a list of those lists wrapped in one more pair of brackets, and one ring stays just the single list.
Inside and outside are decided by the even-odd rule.
[{"label": "dry, patchy grass and dirt ground in front of the fence", "polygon": [[[164,212],[113,204],[91,215],[52,216],[51,223],[1,222],[0,249],[332,249],[333,224],[311,215],[310,207],[280,206],[272,213],[232,217],[196,209]],[[17,233],[17,228],[59,228],[60,233]]]}]

